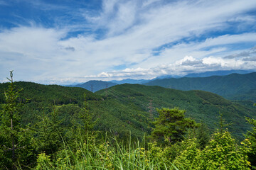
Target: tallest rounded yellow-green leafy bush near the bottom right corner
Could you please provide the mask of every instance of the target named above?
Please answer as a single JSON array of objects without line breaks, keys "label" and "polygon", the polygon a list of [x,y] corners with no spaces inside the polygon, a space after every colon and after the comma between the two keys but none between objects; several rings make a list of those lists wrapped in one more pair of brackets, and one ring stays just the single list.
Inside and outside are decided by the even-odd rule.
[{"label": "tallest rounded yellow-green leafy bush near the bottom right corner", "polygon": [[246,154],[227,131],[215,132],[198,159],[202,169],[250,169]]}]

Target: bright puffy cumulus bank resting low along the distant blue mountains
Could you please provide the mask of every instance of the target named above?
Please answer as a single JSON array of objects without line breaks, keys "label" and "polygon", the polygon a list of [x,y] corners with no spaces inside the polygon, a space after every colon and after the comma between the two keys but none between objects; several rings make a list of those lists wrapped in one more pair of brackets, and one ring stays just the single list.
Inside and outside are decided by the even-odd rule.
[{"label": "bright puffy cumulus bank resting low along the distant blue mountains", "polygon": [[[252,69],[255,70],[256,57],[246,60],[247,57],[222,58],[222,57],[204,57],[197,60],[192,56],[186,56],[174,64],[161,64],[156,67],[142,69],[124,69],[114,72],[102,72],[95,76],[84,77],[85,79],[153,79],[163,75],[180,75],[183,76],[188,72],[207,72],[213,70],[230,70],[230,69]],[[250,62],[247,62],[250,61]]]}]

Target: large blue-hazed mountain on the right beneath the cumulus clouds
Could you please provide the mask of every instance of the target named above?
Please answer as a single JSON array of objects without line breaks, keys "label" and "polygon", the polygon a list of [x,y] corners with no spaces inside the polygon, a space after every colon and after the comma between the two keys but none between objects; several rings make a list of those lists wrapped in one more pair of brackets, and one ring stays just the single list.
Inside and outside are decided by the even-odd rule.
[{"label": "large blue-hazed mountain on the right beneath the cumulus clouds", "polygon": [[218,94],[229,99],[249,99],[256,102],[255,97],[249,94],[249,91],[255,91],[256,89],[256,72],[213,77],[156,79],[144,85],[163,86],[165,88],[179,89],[184,91],[210,91],[214,94]]}]

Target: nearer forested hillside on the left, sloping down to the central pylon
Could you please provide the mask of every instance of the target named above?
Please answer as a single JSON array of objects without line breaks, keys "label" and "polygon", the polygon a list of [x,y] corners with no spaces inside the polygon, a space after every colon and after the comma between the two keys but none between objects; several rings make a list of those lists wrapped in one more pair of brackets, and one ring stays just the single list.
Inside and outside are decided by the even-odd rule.
[{"label": "nearer forested hillside on the left, sloping down to the central pylon", "polygon": [[[31,82],[15,82],[17,89],[21,91],[21,99],[26,103],[22,115],[22,122],[35,123],[37,117],[43,113],[53,111],[53,105],[58,106],[60,118],[65,119],[65,125],[70,125],[70,120],[85,101],[87,108],[92,113],[94,120],[97,120],[95,130],[112,130],[118,135],[132,135],[142,137],[144,132],[149,132],[148,114],[141,108],[133,108],[127,103],[122,103],[114,98],[106,98],[93,94],[91,91],[78,87],[65,87],[58,85],[42,85]],[[0,84],[0,102],[4,103],[4,90],[8,84]],[[141,118],[143,120],[141,121]]]}]

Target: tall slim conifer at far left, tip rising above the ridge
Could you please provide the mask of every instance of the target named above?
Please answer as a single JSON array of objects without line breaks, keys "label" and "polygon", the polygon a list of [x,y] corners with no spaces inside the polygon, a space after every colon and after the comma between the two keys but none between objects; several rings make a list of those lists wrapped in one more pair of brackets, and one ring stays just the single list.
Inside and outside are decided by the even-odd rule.
[{"label": "tall slim conifer at far left, tip rising above the ridge", "polygon": [[20,111],[23,106],[18,102],[21,90],[16,90],[13,71],[10,71],[9,89],[4,92],[6,102],[0,113],[0,168],[16,169],[18,162],[26,162],[31,153],[29,145],[29,129],[21,127]]}]

